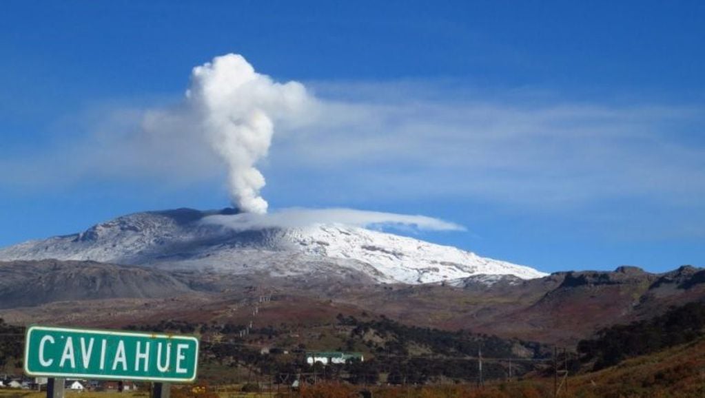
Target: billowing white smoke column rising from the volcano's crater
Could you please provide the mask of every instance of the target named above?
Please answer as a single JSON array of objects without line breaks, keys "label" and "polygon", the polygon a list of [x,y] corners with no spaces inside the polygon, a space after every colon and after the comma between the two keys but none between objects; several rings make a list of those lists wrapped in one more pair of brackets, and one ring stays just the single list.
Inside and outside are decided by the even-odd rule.
[{"label": "billowing white smoke column rising from the volcano's crater", "polygon": [[256,73],[243,56],[227,54],[193,68],[186,97],[228,166],[233,205],[266,213],[267,203],[259,195],[264,176],[255,165],[269,151],[274,122],[297,118],[311,101],[305,87],[276,83]]}]

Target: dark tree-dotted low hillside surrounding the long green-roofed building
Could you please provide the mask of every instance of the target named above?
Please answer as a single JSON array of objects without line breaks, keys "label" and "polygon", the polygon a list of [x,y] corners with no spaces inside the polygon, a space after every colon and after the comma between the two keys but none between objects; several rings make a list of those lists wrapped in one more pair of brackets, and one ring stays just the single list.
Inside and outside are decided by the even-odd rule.
[{"label": "dark tree-dotted low hillside surrounding the long green-roofed building", "polygon": [[[392,385],[423,385],[443,380],[475,383],[479,378],[477,354],[482,349],[486,358],[532,359],[541,355],[544,347],[532,342],[503,340],[489,335],[472,334],[464,330],[450,332],[418,328],[388,318],[358,320],[339,314],[331,323],[308,326],[301,330],[295,325],[247,328],[247,325],[217,323],[187,323],[162,321],[155,325],[133,325],[130,328],[154,332],[186,332],[202,336],[202,361],[229,368],[247,368],[247,378],[275,377],[283,383],[300,374],[311,375],[317,381],[353,384],[388,383]],[[245,335],[240,332],[247,330]],[[297,336],[295,339],[292,336]],[[267,347],[262,354],[260,348]],[[307,351],[363,352],[364,363],[311,366],[306,362]],[[283,354],[288,352],[288,354]],[[487,361],[485,380],[506,378],[508,361]],[[207,367],[206,367],[207,368]],[[513,374],[533,370],[530,362],[515,362]],[[232,373],[232,372],[231,372]],[[202,373],[202,377],[208,377]],[[212,383],[237,380],[210,380]]]}]

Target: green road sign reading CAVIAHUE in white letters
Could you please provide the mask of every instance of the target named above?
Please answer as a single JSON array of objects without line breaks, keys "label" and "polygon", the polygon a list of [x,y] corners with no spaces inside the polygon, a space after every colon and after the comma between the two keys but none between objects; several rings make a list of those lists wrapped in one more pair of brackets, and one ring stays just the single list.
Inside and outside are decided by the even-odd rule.
[{"label": "green road sign reading CAVIAHUE in white letters", "polygon": [[31,376],[190,383],[197,362],[193,336],[31,326],[25,337]]}]

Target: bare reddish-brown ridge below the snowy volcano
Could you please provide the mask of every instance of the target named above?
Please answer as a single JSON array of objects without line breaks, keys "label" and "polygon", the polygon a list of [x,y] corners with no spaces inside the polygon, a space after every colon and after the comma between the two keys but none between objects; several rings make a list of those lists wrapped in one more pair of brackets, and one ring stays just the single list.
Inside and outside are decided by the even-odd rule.
[{"label": "bare reddish-brown ridge below the snowy volcano", "polygon": [[[699,279],[704,271],[681,267],[627,279],[620,271],[576,271],[572,276],[508,277],[494,283],[473,275],[457,283],[406,285],[327,272],[232,277],[207,269],[88,261],[0,262],[0,318],[23,324],[121,327],[137,319],[247,323],[256,311],[259,325],[275,325],[282,320],[326,322],[339,312],[374,313],[419,327],[575,344],[609,325],[704,300],[705,282]],[[564,283],[582,280],[582,275],[590,277],[587,283]],[[613,278],[622,282],[609,282]],[[273,299],[257,304],[261,297]],[[243,302],[250,304],[243,308]]]}]

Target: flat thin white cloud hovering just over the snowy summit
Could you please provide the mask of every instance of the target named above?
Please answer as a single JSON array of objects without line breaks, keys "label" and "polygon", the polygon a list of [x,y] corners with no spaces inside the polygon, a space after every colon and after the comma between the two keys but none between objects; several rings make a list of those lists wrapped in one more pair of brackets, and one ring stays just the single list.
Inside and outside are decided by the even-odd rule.
[{"label": "flat thin white cloud hovering just over the snowy summit", "polygon": [[460,231],[461,225],[427,216],[363,211],[355,209],[278,209],[270,213],[239,213],[207,216],[204,223],[237,231],[266,228],[305,228],[311,225],[348,225],[361,228],[398,230]]}]

